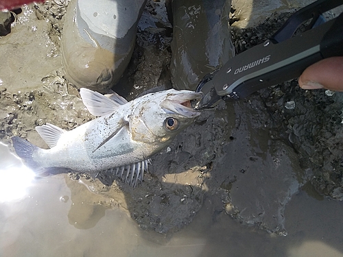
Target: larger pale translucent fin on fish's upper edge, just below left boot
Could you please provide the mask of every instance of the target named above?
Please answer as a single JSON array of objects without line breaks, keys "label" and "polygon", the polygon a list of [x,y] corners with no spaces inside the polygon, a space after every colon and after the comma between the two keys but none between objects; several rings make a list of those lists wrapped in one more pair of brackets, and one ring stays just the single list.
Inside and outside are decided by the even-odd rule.
[{"label": "larger pale translucent fin on fish's upper edge, just below left boot", "polygon": [[95,116],[111,114],[123,104],[123,97],[120,97],[117,94],[118,97],[114,100],[90,89],[81,88],[80,95],[82,97],[82,102],[88,111]]}]

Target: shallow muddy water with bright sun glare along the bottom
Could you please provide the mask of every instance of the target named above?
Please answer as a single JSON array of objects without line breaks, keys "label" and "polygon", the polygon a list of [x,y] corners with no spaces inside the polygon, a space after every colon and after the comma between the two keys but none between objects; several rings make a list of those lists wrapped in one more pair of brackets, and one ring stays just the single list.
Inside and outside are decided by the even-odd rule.
[{"label": "shallow muddy water with bright sun glare along the bottom", "polygon": [[75,181],[67,186],[68,175],[32,179],[3,145],[0,156],[0,256],[343,256],[342,202],[300,192],[287,205],[282,237],[230,219],[207,196],[190,225],[165,236],[141,230],[126,212],[91,204],[93,193]]}]

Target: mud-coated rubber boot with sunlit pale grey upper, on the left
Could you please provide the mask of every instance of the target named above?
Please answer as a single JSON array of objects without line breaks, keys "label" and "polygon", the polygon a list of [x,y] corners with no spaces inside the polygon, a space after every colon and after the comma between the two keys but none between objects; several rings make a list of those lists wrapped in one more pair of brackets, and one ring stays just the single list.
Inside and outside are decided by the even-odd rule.
[{"label": "mud-coated rubber boot with sunlit pale grey upper, on the left", "polygon": [[146,0],[71,0],[62,32],[66,78],[107,93],[132,56]]}]

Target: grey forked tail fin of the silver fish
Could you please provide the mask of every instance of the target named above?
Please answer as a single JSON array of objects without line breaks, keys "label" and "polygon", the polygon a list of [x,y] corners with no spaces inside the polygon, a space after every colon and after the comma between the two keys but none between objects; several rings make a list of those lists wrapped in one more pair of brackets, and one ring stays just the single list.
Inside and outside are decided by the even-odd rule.
[{"label": "grey forked tail fin of the silver fish", "polygon": [[27,140],[20,138],[19,136],[13,136],[12,143],[16,150],[16,154],[25,160],[25,164],[27,164],[29,168],[36,171],[37,168],[39,168],[39,164],[34,161],[33,154],[40,148],[36,147],[36,145],[32,145],[32,143],[29,143]]}]

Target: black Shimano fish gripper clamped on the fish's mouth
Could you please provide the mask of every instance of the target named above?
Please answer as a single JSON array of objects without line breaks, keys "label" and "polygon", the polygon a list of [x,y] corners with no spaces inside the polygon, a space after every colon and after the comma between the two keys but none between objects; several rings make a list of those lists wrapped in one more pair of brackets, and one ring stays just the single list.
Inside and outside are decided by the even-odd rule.
[{"label": "black Shimano fish gripper clamped on the fish's mouth", "polygon": [[[247,97],[261,88],[300,76],[319,60],[343,56],[343,13],[325,23],[322,18],[323,12],[342,4],[343,0],[319,0],[307,5],[292,14],[272,38],[205,75],[196,90],[202,91],[204,97],[195,108],[213,108],[221,99]],[[309,29],[293,36],[299,25],[310,19]]]}]

